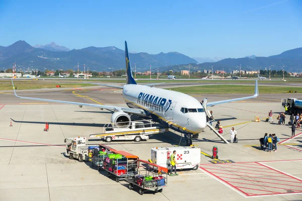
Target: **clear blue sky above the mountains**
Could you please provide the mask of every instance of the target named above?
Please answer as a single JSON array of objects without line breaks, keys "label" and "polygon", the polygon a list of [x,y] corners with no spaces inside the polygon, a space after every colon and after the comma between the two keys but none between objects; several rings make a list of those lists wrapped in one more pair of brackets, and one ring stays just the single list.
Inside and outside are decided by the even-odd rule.
[{"label": "clear blue sky above the mountains", "polygon": [[[54,41],[190,57],[270,56],[302,47],[302,1],[0,0],[0,45]],[[126,3],[127,2],[127,3]]]}]

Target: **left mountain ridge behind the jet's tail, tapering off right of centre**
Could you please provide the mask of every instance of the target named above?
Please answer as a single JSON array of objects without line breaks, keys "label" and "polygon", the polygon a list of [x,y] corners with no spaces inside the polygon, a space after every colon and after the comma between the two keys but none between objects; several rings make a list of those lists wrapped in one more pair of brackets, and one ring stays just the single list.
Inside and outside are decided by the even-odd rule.
[{"label": "left mountain ridge behind the jet's tail, tapering off right of centre", "polygon": [[[11,68],[17,62],[18,68],[34,69],[78,69],[78,62],[86,64],[90,70],[111,71],[125,67],[125,51],[117,47],[87,47],[80,50],[70,50],[55,43],[32,47],[25,41],[17,41],[8,47],[0,46],[0,69]],[[64,50],[64,51],[58,51]],[[137,71],[149,69],[152,65],[154,71],[157,67],[185,63],[197,63],[184,54],[168,52],[148,54],[144,52],[130,53],[131,64]]]}]

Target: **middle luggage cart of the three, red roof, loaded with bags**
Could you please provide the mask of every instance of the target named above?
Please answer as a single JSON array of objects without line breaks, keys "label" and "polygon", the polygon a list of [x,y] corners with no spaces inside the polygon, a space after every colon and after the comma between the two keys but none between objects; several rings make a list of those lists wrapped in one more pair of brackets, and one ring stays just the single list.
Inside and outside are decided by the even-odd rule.
[{"label": "middle luggage cart of the three, red roof, loaded with bags", "polygon": [[[115,177],[115,181],[124,180],[125,177],[137,174],[138,156],[125,151],[110,150],[112,153],[103,161],[103,169],[107,171],[107,176]],[[113,155],[114,154],[114,155]]]}]

